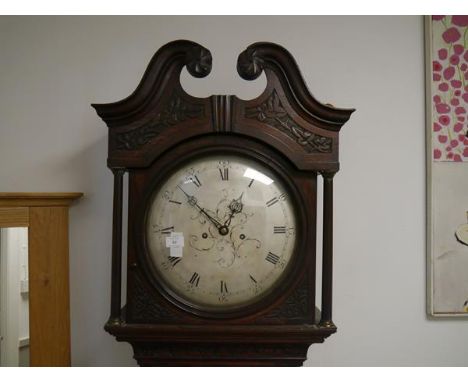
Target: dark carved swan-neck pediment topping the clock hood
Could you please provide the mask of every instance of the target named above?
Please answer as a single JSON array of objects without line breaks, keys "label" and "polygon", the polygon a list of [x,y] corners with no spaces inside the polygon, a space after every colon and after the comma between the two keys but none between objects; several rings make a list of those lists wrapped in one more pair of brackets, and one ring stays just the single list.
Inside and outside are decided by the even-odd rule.
[{"label": "dark carved swan-neck pediment topping the clock hood", "polygon": [[[155,53],[132,94],[92,105],[109,127],[108,166],[143,168],[186,139],[239,134],[274,147],[299,169],[338,168],[338,133],[354,109],[316,100],[283,47],[258,42],[239,55],[237,71],[243,79],[254,80],[262,72],[267,79],[266,95],[253,100],[191,96],[180,83],[184,67],[193,77],[206,77],[210,51],[192,41],[170,42]],[[248,120],[252,123],[244,128]]]}]

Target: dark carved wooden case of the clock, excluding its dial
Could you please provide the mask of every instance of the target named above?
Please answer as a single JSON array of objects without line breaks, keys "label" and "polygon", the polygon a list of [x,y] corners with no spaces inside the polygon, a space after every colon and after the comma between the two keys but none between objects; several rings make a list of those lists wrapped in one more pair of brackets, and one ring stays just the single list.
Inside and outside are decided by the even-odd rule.
[{"label": "dark carved wooden case of the clock, excluding its dial", "polygon": [[[211,71],[211,53],[186,40],[163,46],[136,90],[93,104],[109,127],[108,166],[115,174],[111,317],[105,329],[132,344],[140,365],[302,365],[312,343],[336,331],[332,304],[332,177],[338,133],[352,109],[318,102],[288,51],[256,43],[240,54],[246,80],[267,77],[252,100],[195,98],[182,88],[183,67]],[[230,152],[262,162],[288,187],[298,212],[297,246],[280,286],[233,310],[194,306],[164,285],[146,249],[146,211],[154,190],[185,161]],[[120,309],[122,175],[129,173],[127,305]],[[323,314],[315,308],[317,174],[324,198]],[[321,320],[320,320],[321,318]]]}]

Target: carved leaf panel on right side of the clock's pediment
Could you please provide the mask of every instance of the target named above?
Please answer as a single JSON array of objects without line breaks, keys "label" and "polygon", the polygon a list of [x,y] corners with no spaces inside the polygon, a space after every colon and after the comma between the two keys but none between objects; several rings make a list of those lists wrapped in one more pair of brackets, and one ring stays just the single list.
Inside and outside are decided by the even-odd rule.
[{"label": "carved leaf panel on right side of the clock's pediment", "polygon": [[307,153],[330,153],[333,140],[299,126],[287,113],[274,90],[262,104],[247,108],[247,118],[273,126],[294,139]]}]

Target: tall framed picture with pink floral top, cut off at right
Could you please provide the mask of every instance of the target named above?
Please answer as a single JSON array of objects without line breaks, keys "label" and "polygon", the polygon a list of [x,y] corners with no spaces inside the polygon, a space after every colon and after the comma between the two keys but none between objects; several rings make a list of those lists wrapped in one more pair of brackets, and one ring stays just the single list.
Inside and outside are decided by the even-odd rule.
[{"label": "tall framed picture with pink floral top, cut off at right", "polygon": [[468,317],[468,16],[427,16],[427,311]]}]

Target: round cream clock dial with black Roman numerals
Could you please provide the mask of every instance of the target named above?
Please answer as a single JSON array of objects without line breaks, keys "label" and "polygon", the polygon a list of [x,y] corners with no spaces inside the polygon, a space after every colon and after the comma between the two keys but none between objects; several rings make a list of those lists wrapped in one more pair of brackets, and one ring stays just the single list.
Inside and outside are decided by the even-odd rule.
[{"label": "round cream clock dial with black Roman numerals", "polygon": [[296,242],[286,187],[244,157],[186,164],[155,192],[147,216],[147,247],[159,278],[202,309],[261,299],[281,279]]}]

